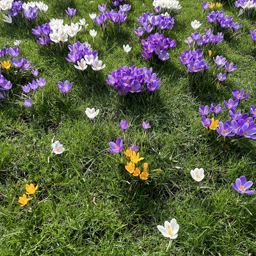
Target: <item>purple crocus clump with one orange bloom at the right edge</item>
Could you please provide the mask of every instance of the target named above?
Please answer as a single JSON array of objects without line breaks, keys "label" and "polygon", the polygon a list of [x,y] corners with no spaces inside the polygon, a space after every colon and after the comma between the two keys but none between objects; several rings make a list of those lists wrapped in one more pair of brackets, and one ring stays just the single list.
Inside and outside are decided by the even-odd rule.
[{"label": "purple crocus clump with one orange bloom at the right edge", "polygon": [[[232,92],[232,95],[234,96],[233,99],[229,99],[228,101],[224,101],[224,104],[227,109],[229,109],[229,115],[231,120],[227,120],[224,122],[220,122],[219,120],[216,120],[216,124],[214,123],[214,118],[210,120],[207,118],[207,115],[212,111],[214,113],[214,116],[216,116],[217,113],[220,111],[223,111],[226,108],[221,108],[220,104],[218,106],[215,106],[214,103],[211,105],[211,109],[209,109],[208,106],[201,106],[199,108],[199,113],[202,116],[201,122],[202,125],[205,127],[209,127],[209,129],[216,129],[216,132],[220,134],[221,136],[239,136],[239,138],[250,138],[256,140],[256,136],[253,134],[256,134],[256,125],[253,122],[253,118],[256,117],[256,111],[255,106],[250,107],[250,112],[252,117],[248,117],[247,113],[242,114],[241,110],[239,109],[236,111],[236,108],[239,104],[239,100],[246,99],[250,96],[250,93],[244,95],[244,89],[239,92],[239,90],[234,89]],[[218,127],[218,128],[217,128]]]}]

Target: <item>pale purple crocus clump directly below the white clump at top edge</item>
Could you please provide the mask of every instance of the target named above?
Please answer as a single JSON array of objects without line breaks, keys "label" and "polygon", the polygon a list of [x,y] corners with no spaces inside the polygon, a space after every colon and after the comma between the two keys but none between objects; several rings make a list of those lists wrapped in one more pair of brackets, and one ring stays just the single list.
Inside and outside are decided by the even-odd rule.
[{"label": "pale purple crocus clump directly below the white clump at top edge", "polygon": [[138,19],[138,22],[143,26],[143,28],[134,29],[137,36],[142,36],[146,31],[148,34],[155,28],[160,28],[161,31],[170,30],[173,28],[174,18],[170,17],[168,13],[161,15],[154,15],[154,13],[143,13]]}]

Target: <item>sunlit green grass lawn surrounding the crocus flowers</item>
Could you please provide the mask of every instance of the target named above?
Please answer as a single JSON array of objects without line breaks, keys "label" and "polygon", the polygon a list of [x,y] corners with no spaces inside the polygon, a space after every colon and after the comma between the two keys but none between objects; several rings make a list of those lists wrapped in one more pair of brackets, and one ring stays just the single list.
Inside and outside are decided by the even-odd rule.
[{"label": "sunlit green grass lawn surrounding the crocus flowers", "polygon": [[[44,102],[38,89],[36,99],[32,95],[33,107],[24,108],[20,86],[34,79],[27,72],[13,81],[10,102],[0,104],[0,255],[254,255],[255,194],[244,194],[238,200],[231,183],[241,175],[256,182],[255,141],[224,140],[213,131],[208,134],[198,108],[212,102],[224,106],[223,100],[232,97],[234,88],[251,93],[240,105],[242,112],[250,112],[256,104],[256,50],[249,34],[255,29],[255,17],[237,17],[234,5],[223,4],[220,10],[243,26],[236,36],[225,33],[225,40],[215,49],[204,49],[209,75],[191,84],[179,57],[187,49],[184,40],[191,35],[192,20],[202,22],[200,33],[210,28],[201,1],[180,1],[175,25],[165,33],[177,46],[170,49],[170,60],[163,67],[159,61],[143,59],[140,39],[134,35],[134,28],[139,27],[136,17],[154,12],[152,1],[126,2],[132,8],[116,35],[111,29],[103,35],[89,17],[89,13],[99,14],[97,6],[102,1],[44,2],[49,5],[47,15],[38,15],[32,26],[1,22],[0,49],[22,40],[20,56],[38,68],[47,84]],[[86,73],[86,81],[65,60],[67,47],[58,52],[46,49],[31,33],[52,18],[70,24],[65,13],[68,6],[77,8],[75,22],[85,18],[88,31],[97,29],[94,44],[88,31],[76,39],[84,42],[88,38],[106,64],[97,77]],[[124,44],[132,47],[128,55]],[[208,50],[238,67],[220,85]],[[119,95],[106,79],[109,72],[124,65],[153,67],[163,85],[152,94]],[[68,102],[57,85],[65,80],[74,84]],[[100,109],[94,126],[86,108]],[[218,118],[227,120],[228,112]],[[148,182],[133,184],[131,193],[132,177],[118,164],[118,157],[107,151],[109,141],[118,136],[124,139],[120,120],[129,123],[125,147],[139,145],[148,169],[163,170]],[[145,120],[151,128],[144,138],[141,124]],[[52,138],[63,144],[63,154],[51,155]],[[205,170],[201,186],[206,188],[200,190],[190,175],[196,167]],[[20,207],[19,196],[30,183],[39,184],[36,200]],[[180,230],[167,253],[168,239],[156,227],[172,218]]]}]

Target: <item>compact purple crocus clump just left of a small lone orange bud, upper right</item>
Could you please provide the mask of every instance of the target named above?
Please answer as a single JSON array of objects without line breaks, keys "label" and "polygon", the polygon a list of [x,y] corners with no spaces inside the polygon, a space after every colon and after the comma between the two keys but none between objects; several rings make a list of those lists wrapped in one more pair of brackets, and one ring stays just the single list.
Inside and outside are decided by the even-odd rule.
[{"label": "compact purple crocus clump just left of a small lone orange bud, upper right", "polygon": [[205,60],[202,60],[204,52],[200,51],[198,49],[197,51],[193,50],[185,52],[182,52],[180,54],[180,62],[183,65],[186,65],[186,68],[189,72],[195,73],[199,72],[204,68],[204,71],[209,69],[209,65],[207,65],[208,62],[205,62]]}]

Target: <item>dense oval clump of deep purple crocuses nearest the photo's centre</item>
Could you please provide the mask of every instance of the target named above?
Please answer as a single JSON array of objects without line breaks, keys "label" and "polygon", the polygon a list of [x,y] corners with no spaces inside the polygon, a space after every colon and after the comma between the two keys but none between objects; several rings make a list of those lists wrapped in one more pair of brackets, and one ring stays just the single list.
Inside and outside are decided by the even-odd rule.
[{"label": "dense oval clump of deep purple crocuses nearest the photo's centre", "polygon": [[[116,88],[116,92],[127,95],[131,92],[143,92],[149,90],[153,92],[157,90],[162,84],[159,84],[161,78],[156,77],[156,74],[152,73],[152,68],[137,68],[132,67],[120,67],[118,70],[114,70],[109,73],[108,84],[113,85]],[[147,84],[147,88],[144,88],[143,84]]]}]

